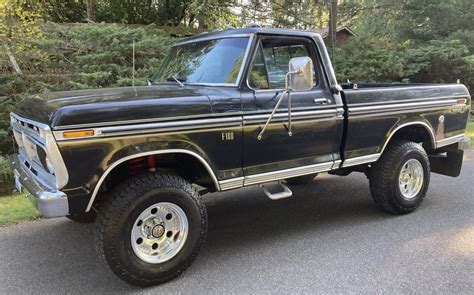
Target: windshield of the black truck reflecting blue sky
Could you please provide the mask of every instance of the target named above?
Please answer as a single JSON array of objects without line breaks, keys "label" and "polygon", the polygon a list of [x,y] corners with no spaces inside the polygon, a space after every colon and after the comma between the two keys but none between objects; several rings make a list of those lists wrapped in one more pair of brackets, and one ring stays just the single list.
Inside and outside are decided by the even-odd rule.
[{"label": "windshield of the black truck reflecting blue sky", "polygon": [[236,84],[249,38],[226,38],[177,45],[154,82]]}]

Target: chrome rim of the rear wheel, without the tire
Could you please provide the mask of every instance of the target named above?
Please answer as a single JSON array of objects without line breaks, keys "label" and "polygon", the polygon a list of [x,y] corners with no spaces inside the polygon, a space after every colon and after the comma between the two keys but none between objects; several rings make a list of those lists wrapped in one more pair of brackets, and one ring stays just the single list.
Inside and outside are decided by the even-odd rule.
[{"label": "chrome rim of the rear wheel, without the tire", "polygon": [[399,175],[400,192],[403,198],[412,200],[423,187],[424,171],[420,161],[410,159],[403,164]]}]

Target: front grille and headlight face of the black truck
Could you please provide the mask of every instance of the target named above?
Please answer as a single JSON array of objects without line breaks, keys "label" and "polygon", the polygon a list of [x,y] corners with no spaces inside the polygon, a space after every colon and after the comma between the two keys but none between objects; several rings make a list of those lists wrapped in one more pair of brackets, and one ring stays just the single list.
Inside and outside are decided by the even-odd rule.
[{"label": "front grille and headlight face of the black truck", "polygon": [[54,188],[56,177],[46,167],[48,127],[44,124],[11,115],[11,127],[18,146],[19,159],[23,167],[41,184]]}]

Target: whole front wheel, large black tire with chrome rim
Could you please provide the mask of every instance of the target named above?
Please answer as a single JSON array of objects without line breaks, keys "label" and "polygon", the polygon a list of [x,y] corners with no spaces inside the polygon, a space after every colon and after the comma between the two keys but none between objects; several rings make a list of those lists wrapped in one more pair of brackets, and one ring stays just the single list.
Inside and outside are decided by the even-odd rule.
[{"label": "whole front wheel, large black tire with chrome rim", "polygon": [[175,175],[146,174],[122,183],[101,204],[96,248],[119,278],[150,286],[180,275],[206,232],[206,208],[191,184]]}]

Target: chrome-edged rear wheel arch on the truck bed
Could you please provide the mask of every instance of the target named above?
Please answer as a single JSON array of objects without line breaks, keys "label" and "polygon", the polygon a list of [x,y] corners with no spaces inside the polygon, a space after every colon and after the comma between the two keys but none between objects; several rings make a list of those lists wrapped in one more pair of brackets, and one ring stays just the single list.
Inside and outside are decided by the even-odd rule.
[{"label": "chrome-edged rear wheel arch on the truck bed", "polygon": [[380,150],[380,154],[382,154],[387,145],[396,138],[423,142],[428,145],[429,148],[436,149],[436,137],[433,128],[423,121],[403,123],[393,128],[387,136],[387,139]]}]

